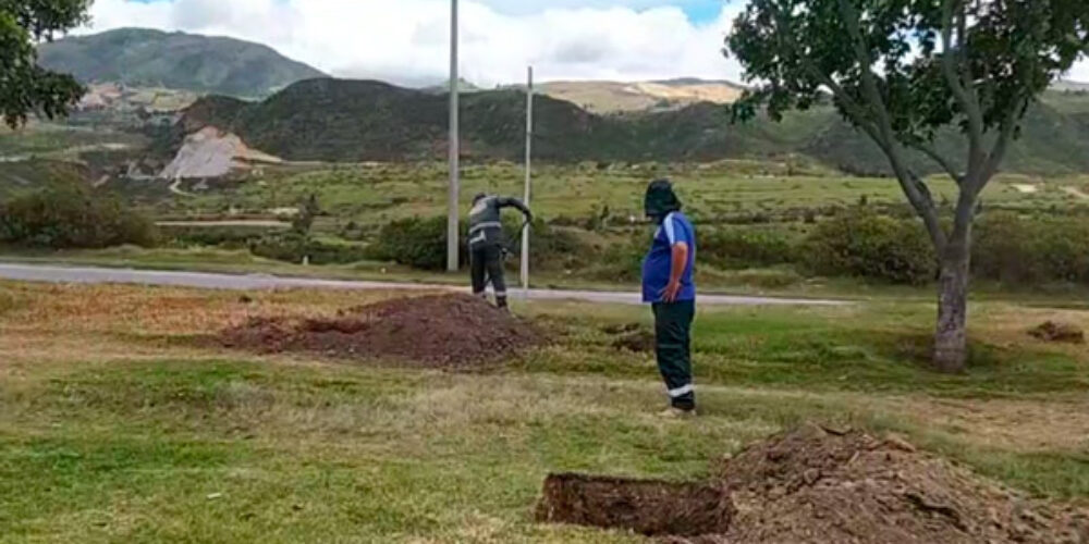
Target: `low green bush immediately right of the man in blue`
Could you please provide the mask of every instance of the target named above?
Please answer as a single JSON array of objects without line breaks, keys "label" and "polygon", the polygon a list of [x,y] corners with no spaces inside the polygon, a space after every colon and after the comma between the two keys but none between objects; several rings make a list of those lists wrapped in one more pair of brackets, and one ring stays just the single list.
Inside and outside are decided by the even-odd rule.
[{"label": "low green bush immediately right of the man in blue", "polygon": [[794,260],[794,240],[775,228],[719,228],[699,236],[701,260],[725,270],[774,267]]}]

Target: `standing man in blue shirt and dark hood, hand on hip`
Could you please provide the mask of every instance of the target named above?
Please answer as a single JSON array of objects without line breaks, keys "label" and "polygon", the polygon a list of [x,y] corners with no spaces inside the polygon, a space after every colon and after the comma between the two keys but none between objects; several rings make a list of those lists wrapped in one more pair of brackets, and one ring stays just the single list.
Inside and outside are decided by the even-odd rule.
[{"label": "standing man in blue shirt and dark hood, hand on hip", "polygon": [[647,187],[647,217],[658,224],[650,252],[643,261],[643,300],[654,312],[658,369],[665,380],[670,417],[696,413],[692,380],[692,322],[696,314],[696,231],[681,213],[681,200],[668,180]]}]

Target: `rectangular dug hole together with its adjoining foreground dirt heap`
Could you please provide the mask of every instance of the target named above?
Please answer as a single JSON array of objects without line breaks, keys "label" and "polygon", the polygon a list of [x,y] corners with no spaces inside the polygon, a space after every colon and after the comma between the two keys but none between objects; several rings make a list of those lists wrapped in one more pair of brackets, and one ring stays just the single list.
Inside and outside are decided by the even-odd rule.
[{"label": "rectangular dug hole together with its adjoining foreground dirt heap", "polygon": [[1021,496],[894,435],[805,424],[717,473],[703,484],[552,475],[538,519],[692,544],[1089,542],[1086,510]]}]

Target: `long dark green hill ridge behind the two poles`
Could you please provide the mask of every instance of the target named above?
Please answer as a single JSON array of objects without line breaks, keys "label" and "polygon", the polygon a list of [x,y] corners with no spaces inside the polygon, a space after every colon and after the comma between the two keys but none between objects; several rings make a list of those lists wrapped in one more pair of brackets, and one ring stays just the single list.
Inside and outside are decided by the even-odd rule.
[{"label": "long dark green hill ridge behind the two poles", "polygon": [[[1089,120],[1066,113],[1079,98],[1052,92],[1033,106],[1005,169],[1031,174],[1089,172]],[[286,160],[436,160],[446,153],[446,96],[380,82],[311,79],[261,102],[208,97],[175,126],[176,147],[206,126],[237,134],[252,148]],[[470,160],[518,160],[525,96],[517,89],[462,97],[462,146]],[[941,149],[963,154],[963,139],[939,136]],[[713,161],[809,157],[847,172],[888,172],[883,156],[828,106],[731,124],[729,108],[697,102],[678,110],[598,115],[548,96],[535,102],[535,154],[546,161]],[[909,157],[917,172],[938,172]]]}]

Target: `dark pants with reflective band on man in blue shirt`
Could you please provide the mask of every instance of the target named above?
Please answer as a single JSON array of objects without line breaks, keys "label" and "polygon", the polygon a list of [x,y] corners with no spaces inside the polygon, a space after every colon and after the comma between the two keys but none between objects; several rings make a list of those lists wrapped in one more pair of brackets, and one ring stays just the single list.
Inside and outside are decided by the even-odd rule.
[{"label": "dark pants with reflective band on man in blue shirt", "polygon": [[696,392],[692,381],[692,322],[696,316],[696,301],[656,302],[656,355],[658,370],[665,380],[670,401],[674,408],[696,408]]}]

